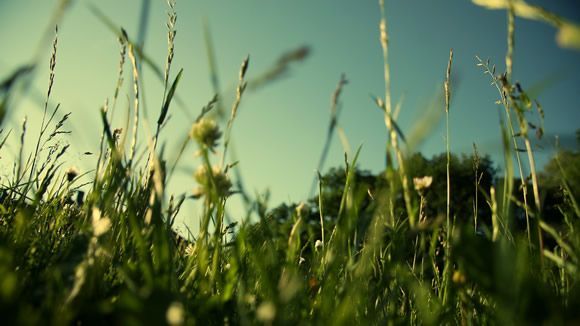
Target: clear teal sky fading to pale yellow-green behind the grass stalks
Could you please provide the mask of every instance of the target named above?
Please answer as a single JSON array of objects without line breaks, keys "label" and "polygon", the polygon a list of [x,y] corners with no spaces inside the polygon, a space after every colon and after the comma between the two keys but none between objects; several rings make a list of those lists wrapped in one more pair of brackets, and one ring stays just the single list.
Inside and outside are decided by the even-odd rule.
[{"label": "clear teal sky fading to pale yellow-green behind the grass stalks", "polygon": [[[339,125],[348,138],[350,154],[362,146],[359,167],[372,172],[383,170],[387,132],[383,115],[371,99],[372,95],[384,96],[377,2],[177,0],[172,76],[184,69],[177,93],[186,108],[171,107],[171,119],[162,135],[169,156],[189,131],[193,117],[213,96],[203,38],[205,21],[226,107],[230,105],[240,64],[247,55],[248,77],[252,78],[272,67],[286,51],[300,46],[311,50],[307,59],[293,65],[284,78],[247,92],[242,99],[232,138],[239,160],[236,168],[250,193],[263,194],[269,189],[271,207],[307,199],[325,141],[331,94],[343,73],[349,83],[341,95]],[[42,113],[53,37],[50,19],[58,3],[0,0],[0,77],[5,78],[35,58],[42,63],[32,87],[22,94],[4,122],[3,128],[14,131],[0,161],[8,172],[8,158],[18,148],[22,119],[28,117],[29,130],[35,130]],[[116,36],[96,18],[90,5],[136,39],[142,1],[72,3],[59,22],[52,99],[61,104],[62,113],[72,113],[67,124],[72,135],[65,139],[72,147],[65,165],[89,171],[94,168],[95,158],[83,153],[98,152],[102,128],[99,108],[113,96],[119,61]],[[529,3],[580,22],[577,0]],[[476,66],[475,57],[489,58],[497,64],[498,71],[505,69],[506,13],[485,10],[466,0],[387,0],[386,15],[393,102],[401,103],[398,124],[409,134],[420,121],[432,127],[416,150],[427,157],[445,150],[444,119],[433,117],[428,107],[442,88],[449,49],[453,48],[451,150],[470,153],[476,143],[479,151],[491,155],[501,170],[499,110],[495,104],[498,94],[490,86],[489,77]],[[144,49],[160,67],[167,55],[166,21],[165,1],[151,1]],[[514,79],[524,88],[543,85],[537,99],[546,113],[547,136],[536,152],[540,165],[548,160],[555,135],[561,137],[563,146],[575,146],[574,134],[580,128],[580,52],[558,47],[555,33],[554,28],[543,23],[516,20]],[[125,70],[130,71],[128,65]],[[153,126],[161,107],[163,85],[151,70],[144,68],[142,74],[147,107],[144,115],[150,117]],[[128,105],[130,80],[126,74],[119,112]],[[123,126],[123,119],[123,114],[118,114],[113,126]],[[141,132],[145,135],[146,131]],[[186,150],[178,173],[170,182],[171,192],[190,193],[195,187],[192,173],[199,164],[195,150],[193,145]],[[335,136],[323,171],[343,166],[343,162],[344,149]],[[234,197],[231,202],[234,218],[241,216],[236,214],[239,199]],[[188,203],[183,211],[178,223],[195,229],[199,223],[196,203]]]}]

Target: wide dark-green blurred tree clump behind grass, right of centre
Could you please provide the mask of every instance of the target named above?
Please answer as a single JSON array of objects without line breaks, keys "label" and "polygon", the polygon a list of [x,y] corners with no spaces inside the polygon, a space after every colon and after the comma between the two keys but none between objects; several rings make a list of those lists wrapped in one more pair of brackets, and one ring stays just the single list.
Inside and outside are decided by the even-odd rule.
[{"label": "wide dark-green blurred tree clump behind grass, right of centre", "polygon": [[[437,155],[432,159],[426,159],[423,155],[416,153],[411,155],[407,160],[407,172],[409,182],[412,185],[412,179],[416,177],[432,176],[433,183],[426,189],[424,195],[427,199],[426,215],[427,218],[437,218],[445,215],[447,205],[447,183],[446,183],[446,164],[445,154]],[[458,223],[472,223],[474,216],[475,192],[486,190],[489,191],[495,178],[495,169],[489,157],[480,157],[476,169],[474,168],[474,158],[471,156],[451,155],[451,214]],[[477,185],[476,185],[477,180]],[[336,217],[340,207],[344,185],[346,182],[346,171],[344,168],[333,168],[322,177],[322,202],[324,214],[324,227],[326,232],[331,232],[335,225]],[[387,196],[390,188],[394,187],[396,193],[394,196],[395,215],[400,218],[406,217],[401,187],[398,184],[398,175],[395,178],[395,184],[387,182],[385,173],[376,175],[369,171],[355,170],[355,178],[351,188],[352,202],[357,212],[357,230],[364,234],[369,225],[375,210],[380,209],[380,196]],[[412,190],[412,196],[415,203],[419,203],[419,194]],[[478,220],[486,223],[490,220],[491,212],[485,196],[477,196]],[[310,198],[306,205],[303,206],[303,236],[314,235],[314,239],[319,238],[320,234],[320,211],[319,200],[317,196]],[[277,234],[287,237],[291,225],[296,219],[296,209],[298,204],[282,204],[267,214],[267,218],[261,221],[257,229],[272,232],[276,229]],[[275,224],[286,224],[285,227],[276,228]],[[279,233],[281,232],[281,233]],[[273,234],[270,234],[273,236]],[[362,237],[361,237],[362,239]]]}]

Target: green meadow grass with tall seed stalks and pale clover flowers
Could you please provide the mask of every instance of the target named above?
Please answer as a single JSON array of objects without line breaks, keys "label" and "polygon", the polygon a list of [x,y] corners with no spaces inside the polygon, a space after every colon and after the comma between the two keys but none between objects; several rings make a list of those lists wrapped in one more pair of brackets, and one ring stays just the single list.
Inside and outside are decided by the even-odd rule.
[{"label": "green meadow grass with tall seed stalks and pale clover flowers", "polygon": [[[475,146],[469,158],[449,150],[453,50],[441,67],[447,151],[431,161],[406,152],[391,100],[388,22],[380,0],[384,66],[377,69],[384,70],[386,87],[375,102],[385,121],[387,169],[362,171],[359,148],[345,155],[344,166],[319,174],[312,198],[275,209],[245,192],[236,162],[228,161],[249,85],[249,57],[241,61],[232,106],[226,110],[209,95],[184,137],[177,160],[191,154],[184,153],[188,142],[197,146],[197,188],[192,194],[166,189],[177,162],[165,157],[158,139],[183,73],[172,67],[173,9],[169,1],[168,54],[159,69],[163,104],[149,139],[137,132],[140,63],[156,64],[118,30],[120,77],[101,110],[101,151],[90,175],[63,163],[68,145],[59,139],[69,137],[68,114],[49,105],[58,73],[55,36],[41,128],[27,130],[25,121],[12,131],[23,143],[11,177],[0,183],[2,324],[580,323],[580,154],[558,152],[545,173],[537,170],[532,139],[542,136],[544,113],[511,78],[517,7],[506,8],[505,71],[479,58],[474,67],[497,89],[504,175],[494,175]],[[132,75],[127,85],[124,69]],[[17,71],[3,80],[2,117],[20,77]],[[346,83],[343,77],[332,96],[327,144],[335,133],[343,136],[337,107]],[[122,92],[132,94],[131,116],[124,130],[113,129]],[[27,153],[30,132],[38,137]],[[0,134],[0,148],[8,134]],[[325,157],[326,149],[320,166]],[[433,178],[436,173],[444,177]],[[305,187],[310,183],[304,180]],[[229,209],[233,196],[244,198],[245,212]],[[195,234],[173,230],[185,201],[203,203]]]}]

